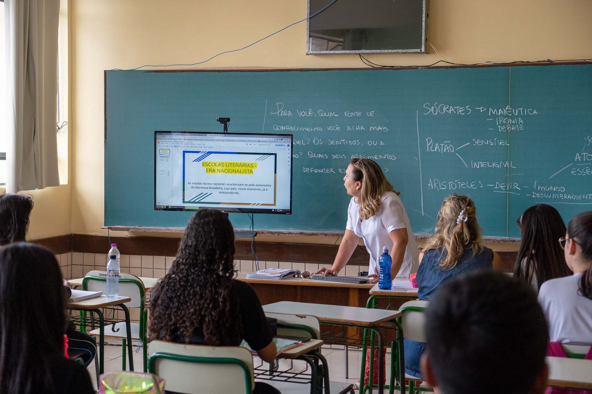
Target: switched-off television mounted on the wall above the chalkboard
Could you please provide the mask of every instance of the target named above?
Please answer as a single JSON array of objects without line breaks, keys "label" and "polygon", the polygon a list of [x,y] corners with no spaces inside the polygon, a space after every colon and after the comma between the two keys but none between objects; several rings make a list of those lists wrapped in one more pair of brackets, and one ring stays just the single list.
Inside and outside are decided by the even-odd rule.
[{"label": "switched-off television mounted on the wall above the chalkboard", "polygon": [[[307,54],[427,53],[429,0],[337,0],[307,19]],[[308,0],[308,15],[329,0]]]}]

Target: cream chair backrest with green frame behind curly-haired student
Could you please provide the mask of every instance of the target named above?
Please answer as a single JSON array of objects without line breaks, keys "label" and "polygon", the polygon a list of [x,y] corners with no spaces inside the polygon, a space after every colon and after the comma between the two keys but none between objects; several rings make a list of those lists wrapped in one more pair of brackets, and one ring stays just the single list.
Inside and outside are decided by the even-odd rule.
[{"label": "cream chair backrest with green frame behind curly-haired student", "polygon": [[148,370],[166,381],[166,389],[186,394],[252,393],[253,356],[240,346],[149,344]]}]

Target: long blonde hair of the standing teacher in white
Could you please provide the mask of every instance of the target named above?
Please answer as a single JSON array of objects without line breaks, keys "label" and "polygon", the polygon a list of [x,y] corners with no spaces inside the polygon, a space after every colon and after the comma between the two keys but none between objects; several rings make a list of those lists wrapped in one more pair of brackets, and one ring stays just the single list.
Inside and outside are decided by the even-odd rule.
[{"label": "long blonde hair of the standing teacher in white", "polygon": [[[350,161],[350,164],[353,167],[353,180],[362,183],[360,194],[355,197],[356,203],[360,206],[360,219],[368,220],[380,209],[382,194],[394,190],[374,160],[356,157]],[[401,194],[400,191],[394,191],[394,193],[397,193],[397,196]]]}]

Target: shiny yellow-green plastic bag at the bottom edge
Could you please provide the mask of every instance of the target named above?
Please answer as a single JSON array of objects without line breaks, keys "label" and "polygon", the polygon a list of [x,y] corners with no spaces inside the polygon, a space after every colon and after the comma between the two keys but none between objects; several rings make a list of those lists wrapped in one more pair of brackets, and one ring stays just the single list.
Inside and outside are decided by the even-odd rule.
[{"label": "shiny yellow-green plastic bag at the bottom edge", "polygon": [[152,373],[111,372],[101,375],[101,394],[164,394],[165,379]]}]

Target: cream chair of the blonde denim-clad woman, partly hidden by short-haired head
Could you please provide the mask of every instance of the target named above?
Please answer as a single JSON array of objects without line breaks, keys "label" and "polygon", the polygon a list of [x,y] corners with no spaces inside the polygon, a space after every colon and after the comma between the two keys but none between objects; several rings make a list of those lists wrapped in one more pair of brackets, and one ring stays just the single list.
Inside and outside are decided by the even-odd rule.
[{"label": "cream chair of the blonde denim-clad woman, partly hidden by short-haired head", "polygon": [[[398,319],[401,327],[403,327],[403,338],[411,341],[426,342],[426,332],[424,330],[426,318],[423,312],[429,304],[429,301],[413,300],[401,305],[401,308],[399,308],[401,317]],[[405,360],[400,360],[400,362],[404,363]],[[427,386],[416,387],[417,382],[421,382],[422,379],[408,375],[407,373],[405,374],[405,379],[409,382],[410,394],[425,391],[433,392],[433,389]]]}]

